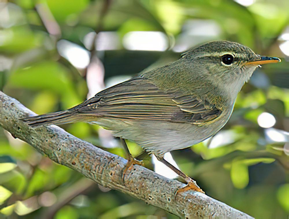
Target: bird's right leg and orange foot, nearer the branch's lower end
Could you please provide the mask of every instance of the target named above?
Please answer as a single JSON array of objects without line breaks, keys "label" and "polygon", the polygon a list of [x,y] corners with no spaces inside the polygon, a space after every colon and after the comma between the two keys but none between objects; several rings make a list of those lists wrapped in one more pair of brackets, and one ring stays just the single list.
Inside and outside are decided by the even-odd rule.
[{"label": "bird's right leg and orange foot, nearer the branch's lower end", "polygon": [[177,196],[178,193],[180,192],[185,192],[187,190],[194,190],[197,192],[202,192],[205,193],[198,185],[197,182],[194,181],[192,178],[190,178],[189,176],[187,176],[186,174],[184,174],[183,172],[181,172],[179,169],[177,169],[175,166],[173,166],[172,164],[170,164],[168,161],[166,161],[163,157],[157,157],[159,161],[161,161],[163,164],[165,164],[167,167],[169,167],[171,170],[173,170],[176,174],[178,174],[179,176],[183,177],[186,181],[186,183],[188,183],[185,187],[180,188],[177,190],[175,197]]}]

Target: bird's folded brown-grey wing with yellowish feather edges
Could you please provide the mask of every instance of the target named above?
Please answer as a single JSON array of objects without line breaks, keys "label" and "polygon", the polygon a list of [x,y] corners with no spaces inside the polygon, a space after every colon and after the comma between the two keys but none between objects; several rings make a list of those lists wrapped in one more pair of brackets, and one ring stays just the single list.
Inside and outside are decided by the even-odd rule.
[{"label": "bird's folded brown-grey wing with yellowish feather edges", "polygon": [[136,77],[105,89],[79,106],[80,112],[115,119],[202,124],[217,118],[221,110],[194,95],[162,91]]}]

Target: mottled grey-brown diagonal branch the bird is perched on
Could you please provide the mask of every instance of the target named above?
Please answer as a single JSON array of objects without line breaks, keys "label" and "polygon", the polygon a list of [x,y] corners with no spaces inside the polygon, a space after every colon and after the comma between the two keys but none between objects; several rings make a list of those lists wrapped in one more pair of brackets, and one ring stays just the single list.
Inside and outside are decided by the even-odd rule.
[{"label": "mottled grey-brown diagonal branch the bird is perched on", "polygon": [[32,129],[18,118],[36,115],[20,102],[0,92],[1,125],[56,163],[82,173],[95,182],[148,204],[160,207],[177,216],[252,218],[200,192],[186,191],[174,199],[178,188],[185,184],[135,165],[124,180],[122,172],[127,160],[91,143],[82,141],[58,126]]}]

